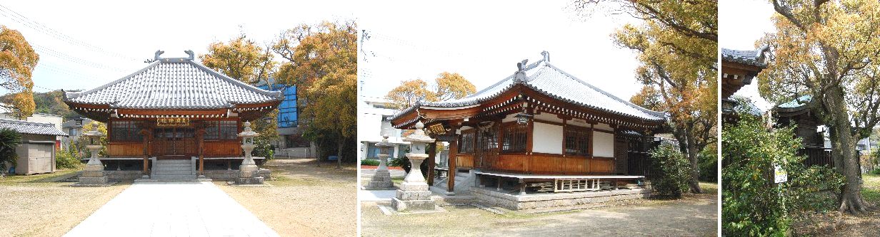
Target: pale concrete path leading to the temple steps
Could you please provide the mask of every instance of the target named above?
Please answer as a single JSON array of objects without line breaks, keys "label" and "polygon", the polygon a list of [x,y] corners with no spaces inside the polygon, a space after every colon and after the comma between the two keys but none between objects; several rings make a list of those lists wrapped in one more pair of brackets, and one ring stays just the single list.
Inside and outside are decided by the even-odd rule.
[{"label": "pale concrete path leading to the temple steps", "polygon": [[64,236],[278,236],[278,233],[214,183],[136,182]]}]

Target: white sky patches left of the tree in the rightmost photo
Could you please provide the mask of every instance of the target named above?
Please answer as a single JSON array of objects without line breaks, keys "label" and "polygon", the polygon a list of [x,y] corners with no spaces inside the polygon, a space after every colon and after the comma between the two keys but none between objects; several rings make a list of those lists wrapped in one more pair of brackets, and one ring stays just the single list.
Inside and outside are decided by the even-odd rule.
[{"label": "white sky patches left of the tree in the rightmost photo", "polygon": [[[754,50],[755,42],[766,32],[775,32],[773,21],[773,4],[766,0],[722,0],[718,1],[718,31],[721,37],[718,46],[737,50]],[[758,94],[758,82],[737,91],[737,95],[750,97],[759,109],[766,111],[769,104]]]}]

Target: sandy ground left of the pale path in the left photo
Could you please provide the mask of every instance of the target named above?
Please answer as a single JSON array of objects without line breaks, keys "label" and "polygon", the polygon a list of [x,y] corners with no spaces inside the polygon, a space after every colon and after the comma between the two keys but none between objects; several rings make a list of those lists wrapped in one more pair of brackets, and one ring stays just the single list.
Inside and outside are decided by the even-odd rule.
[{"label": "sandy ground left of the pale path in the left photo", "polygon": [[54,182],[73,172],[0,179],[0,236],[61,236],[130,184],[75,188]]}]

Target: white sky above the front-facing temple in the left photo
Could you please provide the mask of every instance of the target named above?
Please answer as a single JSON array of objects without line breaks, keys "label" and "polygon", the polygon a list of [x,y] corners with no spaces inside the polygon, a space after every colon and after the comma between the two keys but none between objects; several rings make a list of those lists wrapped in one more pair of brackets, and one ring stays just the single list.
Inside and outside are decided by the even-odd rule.
[{"label": "white sky above the front-facing temple in the left photo", "polygon": [[[161,0],[0,0],[0,6],[0,25],[21,32],[40,54],[33,71],[38,92],[109,83],[145,67],[143,61],[158,49],[165,51],[163,57],[186,57],[187,49],[204,54],[211,42],[239,32],[268,43],[296,25],[354,19],[357,8],[338,1]],[[65,36],[72,40],[62,40]]]}]

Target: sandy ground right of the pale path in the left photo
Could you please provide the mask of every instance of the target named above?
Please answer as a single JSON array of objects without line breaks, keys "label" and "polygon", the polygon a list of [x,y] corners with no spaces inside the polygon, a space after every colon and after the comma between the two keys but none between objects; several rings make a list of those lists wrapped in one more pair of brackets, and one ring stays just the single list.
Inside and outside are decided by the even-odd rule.
[{"label": "sandy ground right of the pale path in the left photo", "polygon": [[272,186],[220,189],[281,236],[355,236],[356,167],[316,166],[314,159],[272,160]]}]

